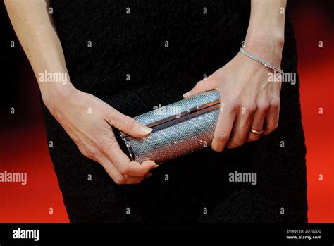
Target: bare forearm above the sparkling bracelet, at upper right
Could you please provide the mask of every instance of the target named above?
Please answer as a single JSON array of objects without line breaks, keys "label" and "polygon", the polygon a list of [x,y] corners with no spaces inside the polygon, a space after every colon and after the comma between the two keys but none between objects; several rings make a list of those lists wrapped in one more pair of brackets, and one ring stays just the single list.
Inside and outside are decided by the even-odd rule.
[{"label": "bare forearm above the sparkling bracelet, at upper right", "polygon": [[252,0],[246,49],[280,65],[284,44],[286,0]]}]

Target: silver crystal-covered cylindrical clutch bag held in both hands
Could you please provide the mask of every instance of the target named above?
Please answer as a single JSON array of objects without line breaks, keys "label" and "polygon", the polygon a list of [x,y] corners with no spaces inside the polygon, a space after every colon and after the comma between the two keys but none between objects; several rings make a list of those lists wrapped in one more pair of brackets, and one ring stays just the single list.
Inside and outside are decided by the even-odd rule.
[{"label": "silver crystal-covered cylindrical clutch bag held in both hands", "polygon": [[210,146],[219,105],[218,91],[204,92],[136,116],[135,120],[153,129],[147,137],[135,138],[118,130],[115,135],[132,161],[161,164]]}]

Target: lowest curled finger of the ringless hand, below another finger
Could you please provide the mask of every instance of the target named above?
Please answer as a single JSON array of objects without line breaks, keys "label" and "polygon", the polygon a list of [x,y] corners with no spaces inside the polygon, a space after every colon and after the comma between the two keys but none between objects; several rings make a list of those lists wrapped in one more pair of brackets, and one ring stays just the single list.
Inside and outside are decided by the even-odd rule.
[{"label": "lowest curled finger of the ringless hand, below another finger", "polygon": [[120,171],[118,171],[118,168],[116,168],[116,166],[114,166],[107,158],[102,159],[101,164],[106,172],[109,174],[109,176],[113,179],[113,181],[118,185],[137,184],[142,182],[142,180],[144,180],[145,178],[124,176],[122,173],[120,173]]}]

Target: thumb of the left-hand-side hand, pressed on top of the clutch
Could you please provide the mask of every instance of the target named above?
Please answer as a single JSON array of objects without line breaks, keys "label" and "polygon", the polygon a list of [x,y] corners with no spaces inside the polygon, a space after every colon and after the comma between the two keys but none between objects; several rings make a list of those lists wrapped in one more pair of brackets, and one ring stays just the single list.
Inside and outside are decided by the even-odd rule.
[{"label": "thumb of the left-hand-side hand, pressed on top of the clutch", "polygon": [[146,125],[142,125],[134,118],[125,116],[123,113],[118,112],[116,109],[111,109],[109,113],[110,117],[107,119],[108,123],[113,127],[121,130],[123,133],[127,133],[132,137],[145,137],[151,133],[152,129]]}]

